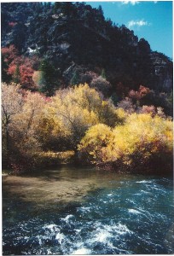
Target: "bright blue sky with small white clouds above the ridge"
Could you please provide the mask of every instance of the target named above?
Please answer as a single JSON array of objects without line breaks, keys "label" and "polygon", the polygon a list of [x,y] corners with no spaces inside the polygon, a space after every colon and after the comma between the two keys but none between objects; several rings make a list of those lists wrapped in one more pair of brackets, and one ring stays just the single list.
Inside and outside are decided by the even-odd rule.
[{"label": "bright blue sky with small white clouds above the ridge", "polygon": [[87,2],[97,8],[102,5],[105,18],[116,25],[124,24],[140,39],[145,38],[152,50],[173,57],[172,1]]}]

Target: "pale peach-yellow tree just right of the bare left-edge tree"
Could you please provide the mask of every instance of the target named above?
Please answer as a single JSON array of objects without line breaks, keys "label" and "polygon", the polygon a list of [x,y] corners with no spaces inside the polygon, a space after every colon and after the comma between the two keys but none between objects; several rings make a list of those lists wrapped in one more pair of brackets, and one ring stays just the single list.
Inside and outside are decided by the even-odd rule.
[{"label": "pale peach-yellow tree just right of the bare left-edge tree", "polygon": [[16,157],[20,159],[22,167],[26,165],[28,159],[31,160],[32,165],[40,150],[38,127],[46,104],[44,96],[31,91],[26,91],[23,101],[20,113],[14,117],[13,126],[13,140],[17,150]]}]

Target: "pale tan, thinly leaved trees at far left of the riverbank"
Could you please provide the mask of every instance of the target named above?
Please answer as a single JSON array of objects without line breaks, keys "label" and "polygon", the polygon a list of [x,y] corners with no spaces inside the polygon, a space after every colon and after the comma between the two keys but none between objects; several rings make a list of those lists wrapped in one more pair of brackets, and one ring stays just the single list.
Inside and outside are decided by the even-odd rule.
[{"label": "pale tan, thinly leaved trees at far left of the riverbank", "polygon": [[[3,164],[19,171],[34,162],[39,149],[37,130],[44,96],[2,84]],[[30,160],[29,160],[30,159]]]}]

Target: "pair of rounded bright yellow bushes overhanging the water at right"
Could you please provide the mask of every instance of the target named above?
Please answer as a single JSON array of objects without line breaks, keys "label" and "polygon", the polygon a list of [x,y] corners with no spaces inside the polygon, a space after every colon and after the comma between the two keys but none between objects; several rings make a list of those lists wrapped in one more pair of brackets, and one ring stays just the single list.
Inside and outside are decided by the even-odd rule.
[{"label": "pair of rounded bright yellow bushes overhanging the water at right", "polygon": [[[121,172],[160,172],[172,168],[172,121],[151,113],[132,113],[113,130],[101,124],[86,132],[78,146],[82,158]],[[167,171],[166,171],[167,172]]]}]

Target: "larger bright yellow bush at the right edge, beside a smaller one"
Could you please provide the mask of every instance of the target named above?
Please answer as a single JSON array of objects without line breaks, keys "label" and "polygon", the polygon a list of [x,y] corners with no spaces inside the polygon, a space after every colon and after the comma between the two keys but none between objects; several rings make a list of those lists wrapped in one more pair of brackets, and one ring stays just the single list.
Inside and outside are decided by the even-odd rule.
[{"label": "larger bright yellow bush at the right edge, beside a smaller one", "polygon": [[[132,113],[125,125],[113,130],[111,160],[122,160],[136,169],[147,165],[166,166],[172,163],[172,121],[151,113]],[[161,167],[160,166],[160,167]]]}]

